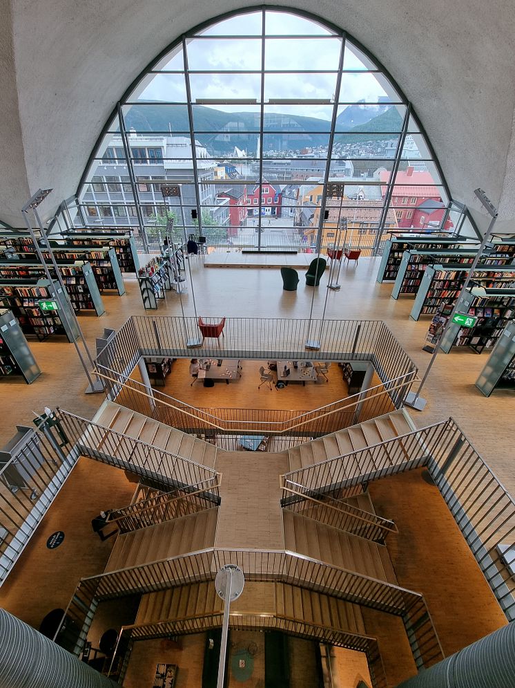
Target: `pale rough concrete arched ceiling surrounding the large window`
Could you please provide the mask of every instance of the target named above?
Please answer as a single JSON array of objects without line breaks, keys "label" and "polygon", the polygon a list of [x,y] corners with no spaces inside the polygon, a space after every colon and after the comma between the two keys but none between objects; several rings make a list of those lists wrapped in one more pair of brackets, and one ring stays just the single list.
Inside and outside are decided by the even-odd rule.
[{"label": "pale rough concrete arched ceiling surrounding the large window", "polygon": [[[482,186],[514,214],[511,3],[283,4],[316,10],[382,62],[414,104],[454,198],[472,205]],[[19,208],[39,187],[54,189],[41,207],[47,218],[75,193],[102,127],[146,64],[183,32],[242,3],[1,0],[0,8],[0,220],[21,226]]]}]

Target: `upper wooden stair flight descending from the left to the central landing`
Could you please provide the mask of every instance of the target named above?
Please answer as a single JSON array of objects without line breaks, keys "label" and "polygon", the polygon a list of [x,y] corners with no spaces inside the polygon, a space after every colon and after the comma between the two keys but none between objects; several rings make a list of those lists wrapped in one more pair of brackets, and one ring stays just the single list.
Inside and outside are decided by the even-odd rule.
[{"label": "upper wooden stair flight descending from the left to the central landing", "polygon": [[188,461],[194,461],[208,468],[215,467],[217,448],[193,435],[177,430],[142,413],[131,411],[110,401],[104,402],[93,422],[121,434],[140,440],[148,445],[164,449]]}]

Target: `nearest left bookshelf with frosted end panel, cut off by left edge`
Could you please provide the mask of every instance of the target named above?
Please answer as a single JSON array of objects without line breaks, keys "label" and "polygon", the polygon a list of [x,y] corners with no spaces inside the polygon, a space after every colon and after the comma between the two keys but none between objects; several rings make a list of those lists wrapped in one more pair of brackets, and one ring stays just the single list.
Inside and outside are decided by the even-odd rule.
[{"label": "nearest left bookshelf with frosted end panel, cut off by left edge", "polygon": [[35,361],[19,322],[11,310],[0,306],[0,379],[22,375],[27,384],[39,378]]}]

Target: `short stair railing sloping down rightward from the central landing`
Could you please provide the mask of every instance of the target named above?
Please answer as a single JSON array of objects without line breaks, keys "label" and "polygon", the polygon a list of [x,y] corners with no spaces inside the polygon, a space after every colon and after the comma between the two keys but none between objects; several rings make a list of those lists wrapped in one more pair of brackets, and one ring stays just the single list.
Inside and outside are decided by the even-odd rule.
[{"label": "short stair railing sloping down rightward from the central landing", "polygon": [[320,499],[316,499],[315,494],[308,495],[301,490],[293,490],[283,483],[281,487],[282,494],[289,495],[289,499],[284,500],[284,509],[320,521],[332,528],[380,543],[385,542],[389,533],[398,532],[393,521],[383,519],[345,501],[333,499],[325,494],[320,494]]}]

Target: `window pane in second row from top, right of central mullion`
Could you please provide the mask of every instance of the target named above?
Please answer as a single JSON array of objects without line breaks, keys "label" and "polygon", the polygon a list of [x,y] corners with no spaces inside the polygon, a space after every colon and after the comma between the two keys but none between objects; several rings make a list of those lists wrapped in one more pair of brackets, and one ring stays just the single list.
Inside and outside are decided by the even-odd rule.
[{"label": "window pane in second row from top, right of central mullion", "polygon": [[292,71],[338,70],[339,38],[267,38],[264,47],[264,68]]}]

